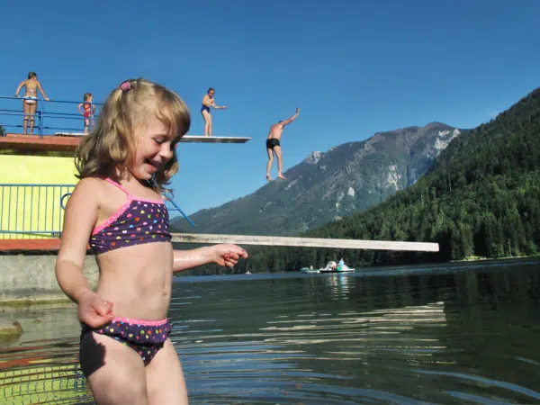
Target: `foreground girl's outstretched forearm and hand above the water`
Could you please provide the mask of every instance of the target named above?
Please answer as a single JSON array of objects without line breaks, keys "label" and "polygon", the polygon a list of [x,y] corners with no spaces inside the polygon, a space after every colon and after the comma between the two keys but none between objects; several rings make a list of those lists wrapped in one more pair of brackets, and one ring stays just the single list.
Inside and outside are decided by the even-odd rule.
[{"label": "foreground girl's outstretched forearm and hand above the water", "polygon": [[173,273],[209,263],[232,267],[238,263],[240,257],[247,258],[246,251],[241,247],[229,244],[199,247],[193,250],[175,250]]}]

